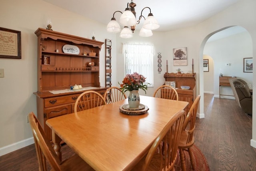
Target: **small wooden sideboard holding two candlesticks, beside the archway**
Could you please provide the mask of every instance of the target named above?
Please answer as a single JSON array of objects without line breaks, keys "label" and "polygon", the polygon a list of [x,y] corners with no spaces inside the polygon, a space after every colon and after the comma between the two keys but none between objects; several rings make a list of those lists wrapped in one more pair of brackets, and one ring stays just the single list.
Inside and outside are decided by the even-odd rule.
[{"label": "small wooden sideboard holding two candlesticks, beside the archway", "polygon": [[[175,82],[176,83],[176,91],[179,96],[179,100],[187,101],[188,106],[185,111],[188,113],[190,107],[192,106],[194,99],[196,99],[196,73],[194,74],[176,74],[176,73],[168,73],[164,74],[165,81]],[[180,86],[190,86],[190,89],[181,89]]]}]

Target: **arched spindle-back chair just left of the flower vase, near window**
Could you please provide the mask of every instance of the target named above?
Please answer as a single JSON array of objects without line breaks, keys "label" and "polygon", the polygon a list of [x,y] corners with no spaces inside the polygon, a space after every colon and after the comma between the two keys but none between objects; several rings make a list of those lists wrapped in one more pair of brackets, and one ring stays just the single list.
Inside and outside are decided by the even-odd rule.
[{"label": "arched spindle-back chair just left of the flower vase, near window", "polygon": [[104,99],[106,100],[106,103],[114,103],[116,101],[120,101],[122,99],[126,99],[126,95],[122,93],[122,90],[118,87],[109,87],[106,89],[106,92],[104,94]]}]

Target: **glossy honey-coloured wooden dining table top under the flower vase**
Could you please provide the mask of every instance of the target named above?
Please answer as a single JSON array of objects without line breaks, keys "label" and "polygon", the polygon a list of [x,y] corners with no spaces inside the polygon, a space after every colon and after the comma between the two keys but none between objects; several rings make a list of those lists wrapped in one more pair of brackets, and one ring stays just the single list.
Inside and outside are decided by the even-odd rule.
[{"label": "glossy honey-coloured wooden dining table top under the flower vase", "polygon": [[[188,102],[140,95],[149,110],[126,115],[128,99],[48,119],[52,138],[62,139],[97,171],[130,170],[148,152],[172,116]],[[59,143],[59,142],[57,142]]]}]

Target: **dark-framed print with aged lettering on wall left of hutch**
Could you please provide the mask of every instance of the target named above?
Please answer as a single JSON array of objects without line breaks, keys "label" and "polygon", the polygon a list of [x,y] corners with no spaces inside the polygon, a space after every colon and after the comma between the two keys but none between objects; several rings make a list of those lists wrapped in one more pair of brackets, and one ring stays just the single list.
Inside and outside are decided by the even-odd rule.
[{"label": "dark-framed print with aged lettering on wall left of hutch", "polygon": [[0,27],[0,58],[21,59],[21,32]]}]

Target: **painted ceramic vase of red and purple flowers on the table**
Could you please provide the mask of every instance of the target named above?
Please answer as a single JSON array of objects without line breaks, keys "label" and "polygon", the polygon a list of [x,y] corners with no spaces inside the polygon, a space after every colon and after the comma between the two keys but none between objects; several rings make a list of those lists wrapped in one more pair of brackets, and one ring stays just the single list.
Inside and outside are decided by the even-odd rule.
[{"label": "painted ceramic vase of red and purple flowers on the table", "polygon": [[137,72],[133,74],[127,74],[124,77],[122,84],[120,84],[122,92],[130,91],[128,96],[128,104],[130,108],[136,108],[140,105],[140,95],[139,89],[143,89],[146,93],[146,89],[148,89],[148,83],[145,83],[146,78]]}]

